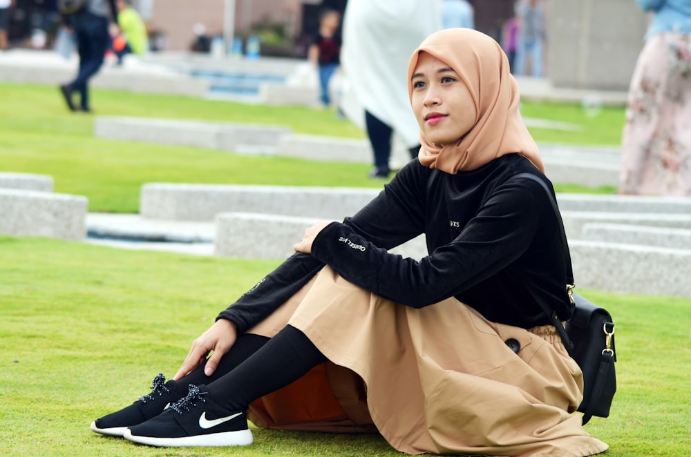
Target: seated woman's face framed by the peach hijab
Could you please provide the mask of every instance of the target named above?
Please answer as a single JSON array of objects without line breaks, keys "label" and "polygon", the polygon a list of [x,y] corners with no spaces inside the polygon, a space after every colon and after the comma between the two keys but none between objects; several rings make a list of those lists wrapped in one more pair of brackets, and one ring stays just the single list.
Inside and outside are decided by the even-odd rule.
[{"label": "seated woman's face framed by the peach hijab", "polygon": [[413,71],[410,103],[420,130],[433,144],[454,143],[475,125],[477,110],[470,91],[448,65],[420,52]]}]

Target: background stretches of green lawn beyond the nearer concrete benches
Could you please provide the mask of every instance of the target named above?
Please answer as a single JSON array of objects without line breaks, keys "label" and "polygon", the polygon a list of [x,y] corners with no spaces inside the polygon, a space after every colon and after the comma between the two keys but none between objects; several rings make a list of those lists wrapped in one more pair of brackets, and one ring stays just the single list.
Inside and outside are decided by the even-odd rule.
[{"label": "background stretches of green lawn beyond the nearer concrete benches", "polygon": [[[0,171],[53,176],[55,191],[84,195],[90,211],[137,213],[142,184],[275,184],[381,187],[368,164],[256,157],[217,150],[95,138],[95,116],[68,113],[53,86],[0,83]],[[360,138],[350,121],[301,106],[258,106],[192,97],[93,90],[98,115],[127,115],[288,126],[295,133]],[[588,117],[580,106],[524,103],[527,117],[578,124],[583,132],[532,129],[538,142],[616,145],[623,110]],[[557,191],[612,193],[556,183]]]}]

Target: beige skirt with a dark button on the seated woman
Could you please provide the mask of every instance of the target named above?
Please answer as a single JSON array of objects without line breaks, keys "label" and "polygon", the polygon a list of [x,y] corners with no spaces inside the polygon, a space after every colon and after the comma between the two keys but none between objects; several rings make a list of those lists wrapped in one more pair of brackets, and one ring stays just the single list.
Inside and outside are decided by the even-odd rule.
[{"label": "beige skirt with a dark button on the seated woman", "polygon": [[[454,298],[413,309],[326,266],[250,333],[300,329],[330,360],[250,406],[256,425],[379,431],[408,454],[589,456],[607,449],[571,414],[583,379],[551,326],[482,318]],[[520,343],[514,353],[505,343]]]}]

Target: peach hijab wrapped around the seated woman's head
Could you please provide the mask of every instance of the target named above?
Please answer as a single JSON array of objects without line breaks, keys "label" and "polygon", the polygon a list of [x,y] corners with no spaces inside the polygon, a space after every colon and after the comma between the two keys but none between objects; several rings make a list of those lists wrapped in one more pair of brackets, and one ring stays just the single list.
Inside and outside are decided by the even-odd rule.
[{"label": "peach hijab wrapped around the seated woman's head", "polygon": [[509,60],[494,39],[468,28],[448,28],[427,37],[413,52],[408,65],[408,95],[420,52],[451,67],[470,90],[475,101],[475,125],[457,142],[441,146],[420,133],[421,164],[455,175],[475,170],[497,157],[520,154],[540,171],[545,166],[533,137],[518,112],[518,84],[509,72]]}]

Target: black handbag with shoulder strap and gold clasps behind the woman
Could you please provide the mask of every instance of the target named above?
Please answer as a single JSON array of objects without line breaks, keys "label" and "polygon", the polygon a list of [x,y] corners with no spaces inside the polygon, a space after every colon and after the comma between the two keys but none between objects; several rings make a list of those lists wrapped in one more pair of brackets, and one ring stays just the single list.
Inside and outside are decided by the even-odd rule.
[{"label": "black handbag with shoulder strap and gold clasps behind the woman", "polygon": [[566,325],[562,324],[554,310],[532,287],[529,287],[529,290],[540,308],[549,315],[553,326],[564,342],[564,346],[569,351],[569,355],[576,360],[581,371],[583,371],[583,402],[578,406],[578,411],[583,413],[583,425],[585,425],[592,416],[606,418],[609,416],[610,407],[612,407],[612,399],[616,392],[614,321],[607,310],[573,292],[574,271],[571,266],[571,254],[566,240],[564,223],[556,200],[545,181],[530,173],[520,173],[517,177],[527,177],[540,183],[547,191],[557,216],[567,269],[567,290],[571,304],[574,306],[574,313],[567,320]]}]

